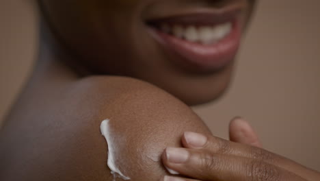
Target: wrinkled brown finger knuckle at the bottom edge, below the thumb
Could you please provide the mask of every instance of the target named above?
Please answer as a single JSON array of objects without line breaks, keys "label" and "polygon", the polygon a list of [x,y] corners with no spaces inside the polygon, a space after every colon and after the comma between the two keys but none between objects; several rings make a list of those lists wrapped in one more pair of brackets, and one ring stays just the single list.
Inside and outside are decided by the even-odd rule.
[{"label": "wrinkled brown finger knuckle at the bottom edge, below the thumb", "polygon": [[277,167],[261,160],[250,160],[246,165],[246,175],[250,181],[280,181],[280,171]]}]

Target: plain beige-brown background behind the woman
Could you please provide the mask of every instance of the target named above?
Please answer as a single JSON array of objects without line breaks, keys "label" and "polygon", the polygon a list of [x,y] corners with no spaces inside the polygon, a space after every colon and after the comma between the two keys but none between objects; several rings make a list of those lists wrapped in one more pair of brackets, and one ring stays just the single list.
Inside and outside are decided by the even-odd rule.
[{"label": "plain beige-brown background behind the woman", "polygon": [[[265,148],[320,171],[320,1],[262,0],[224,97],[195,108],[217,136],[247,118]],[[36,58],[32,0],[0,1],[0,120]]]}]

